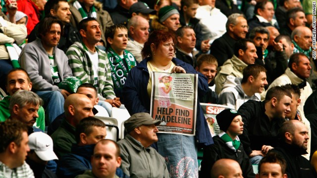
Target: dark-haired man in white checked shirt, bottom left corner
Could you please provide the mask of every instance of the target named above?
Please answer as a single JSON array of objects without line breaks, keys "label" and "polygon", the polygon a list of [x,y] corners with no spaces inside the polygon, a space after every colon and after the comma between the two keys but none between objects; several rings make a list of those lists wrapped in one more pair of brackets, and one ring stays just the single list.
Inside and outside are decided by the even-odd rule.
[{"label": "dark-haired man in white checked shirt, bottom left corner", "polygon": [[28,145],[28,129],[20,121],[8,119],[0,123],[0,176],[2,178],[34,178],[30,166],[24,161]]}]

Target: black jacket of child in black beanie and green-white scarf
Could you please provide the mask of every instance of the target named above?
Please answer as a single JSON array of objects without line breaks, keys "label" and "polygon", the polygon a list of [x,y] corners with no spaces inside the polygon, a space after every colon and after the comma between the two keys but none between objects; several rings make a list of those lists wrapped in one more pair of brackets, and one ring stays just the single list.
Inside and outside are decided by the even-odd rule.
[{"label": "black jacket of child in black beanie and green-white scarf", "polygon": [[244,178],[255,178],[252,164],[243,150],[242,143],[236,151],[233,151],[218,135],[213,136],[212,139],[213,144],[204,148],[204,157],[201,163],[202,177],[207,178],[207,175],[210,175],[214,162],[222,158],[229,158],[236,160],[240,164]]}]

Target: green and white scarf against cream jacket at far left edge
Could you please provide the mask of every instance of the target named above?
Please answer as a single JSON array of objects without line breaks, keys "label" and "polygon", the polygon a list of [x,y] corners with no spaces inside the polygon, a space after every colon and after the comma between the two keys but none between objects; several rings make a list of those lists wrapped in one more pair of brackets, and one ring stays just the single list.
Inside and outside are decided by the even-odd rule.
[{"label": "green and white scarf against cream jacket at far left edge", "polygon": [[[7,27],[7,22],[0,17],[0,26]],[[21,53],[21,48],[16,44],[9,44],[5,43],[4,46],[6,47],[6,50],[8,51],[9,58],[11,60],[13,68],[20,68],[20,64],[18,63],[18,58]]]}]

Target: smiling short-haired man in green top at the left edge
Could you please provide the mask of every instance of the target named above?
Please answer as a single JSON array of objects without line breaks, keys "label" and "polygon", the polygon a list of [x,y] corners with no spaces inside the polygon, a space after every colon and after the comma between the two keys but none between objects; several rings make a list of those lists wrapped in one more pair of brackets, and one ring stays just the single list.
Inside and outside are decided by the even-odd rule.
[{"label": "smiling short-haired man in green top at the left edge", "polygon": [[[6,77],[6,91],[9,93],[9,95],[0,101],[0,122],[3,122],[10,117],[10,98],[16,91],[21,89],[32,89],[32,82],[30,80],[29,74],[22,68],[10,70]],[[38,110],[38,115],[39,117],[36,119],[35,127],[44,131],[45,114],[42,106],[40,106]]]}]

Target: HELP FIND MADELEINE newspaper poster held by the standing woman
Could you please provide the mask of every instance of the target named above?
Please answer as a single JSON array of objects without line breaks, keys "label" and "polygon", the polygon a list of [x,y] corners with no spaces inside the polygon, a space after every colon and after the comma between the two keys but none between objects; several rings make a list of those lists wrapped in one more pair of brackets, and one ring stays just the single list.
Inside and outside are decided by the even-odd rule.
[{"label": "HELP FIND MADELEINE newspaper poster held by the standing woman", "polygon": [[197,74],[152,72],[150,114],[160,133],[195,135]]}]

